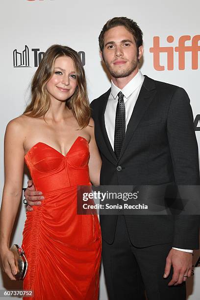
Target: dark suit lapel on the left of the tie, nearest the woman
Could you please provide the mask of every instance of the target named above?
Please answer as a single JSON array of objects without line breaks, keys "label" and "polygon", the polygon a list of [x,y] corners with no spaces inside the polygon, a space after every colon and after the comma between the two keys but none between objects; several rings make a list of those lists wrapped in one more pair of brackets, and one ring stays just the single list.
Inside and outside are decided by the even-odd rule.
[{"label": "dark suit lapel on the left of the tie, nearest the woman", "polygon": [[103,147],[103,149],[105,150],[105,156],[107,158],[109,158],[111,161],[113,161],[114,163],[116,163],[117,158],[116,158],[115,152],[113,151],[112,146],[110,144],[110,140],[108,138],[107,131],[105,128],[105,119],[104,119],[105,109],[106,109],[106,105],[108,102],[110,92],[111,92],[111,88],[103,95],[102,100],[101,100],[102,105],[100,106],[100,109],[99,109],[100,131],[103,136],[102,140],[100,139],[100,144],[102,145],[102,142],[105,144],[105,147]]}]

